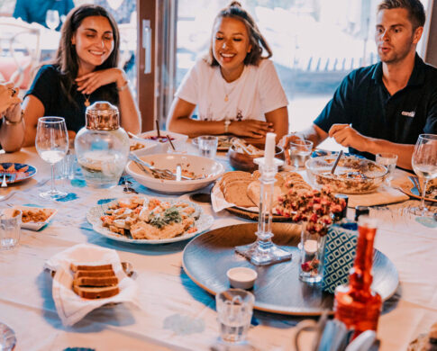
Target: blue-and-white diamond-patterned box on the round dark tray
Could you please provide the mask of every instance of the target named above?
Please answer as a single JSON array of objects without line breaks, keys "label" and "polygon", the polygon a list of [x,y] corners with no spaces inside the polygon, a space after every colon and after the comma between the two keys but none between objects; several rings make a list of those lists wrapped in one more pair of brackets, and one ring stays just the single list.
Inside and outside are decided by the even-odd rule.
[{"label": "blue-and-white diamond-patterned box on the round dark tray", "polygon": [[326,234],[322,289],[334,293],[341,284],[348,284],[357,248],[358,231],[333,224]]}]

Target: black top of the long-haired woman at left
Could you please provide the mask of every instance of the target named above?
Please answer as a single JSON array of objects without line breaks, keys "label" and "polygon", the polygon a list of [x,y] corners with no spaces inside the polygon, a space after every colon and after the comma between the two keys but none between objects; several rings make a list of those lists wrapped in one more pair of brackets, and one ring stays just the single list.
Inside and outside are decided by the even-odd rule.
[{"label": "black top of the long-haired woman at left", "polygon": [[[64,117],[68,130],[80,130],[85,126],[85,95],[77,91],[73,85],[70,96],[61,87],[62,75],[54,65],[45,65],[40,68],[31,88],[26,95],[34,95],[44,105],[45,116]],[[118,106],[118,92],[115,83],[103,85],[89,96],[89,102],[107,101]]]}]

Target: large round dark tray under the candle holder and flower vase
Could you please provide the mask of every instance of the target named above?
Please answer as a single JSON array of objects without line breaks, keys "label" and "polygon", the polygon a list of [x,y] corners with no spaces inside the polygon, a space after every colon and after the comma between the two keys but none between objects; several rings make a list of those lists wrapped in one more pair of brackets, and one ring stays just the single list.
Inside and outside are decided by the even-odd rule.
[{"label": "large round dark tray under the candle holder and flower vase", "polygon": [[[304,284],[298,279],[300,226],[272,223],[273,241],[293,254],[291,261],[272,266],[253,266],[234,251],[256,239],[257,223],[238,224],[208,231],[191,240],[184,250],[183,267],[187,275],[208,293],[229,289],[226,271],[232,267],[250,267],[258,279],[251,291],[254,309],[288,315],[321,315],[331,311],[333,295],[320,285]],[[399,283],[396,267],[380,251],[374,250],[372,287],[385,301],[396,292]]]}]

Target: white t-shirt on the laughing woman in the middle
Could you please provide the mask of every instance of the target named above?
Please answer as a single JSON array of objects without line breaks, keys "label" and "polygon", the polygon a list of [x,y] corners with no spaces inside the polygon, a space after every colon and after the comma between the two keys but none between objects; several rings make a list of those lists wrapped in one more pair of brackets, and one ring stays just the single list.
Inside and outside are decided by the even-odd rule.
[{"label": "white t-shirt on the laughing woman in the middle", "polygon": [[266,121],[264,113],[288,104],[287,95],[269,59],[261,59],[258,67],[244,66],[241,76],[227,83],[219,66],[211,67],[204,58],[199,58],[175,95],[196,104],[201,121]]}]

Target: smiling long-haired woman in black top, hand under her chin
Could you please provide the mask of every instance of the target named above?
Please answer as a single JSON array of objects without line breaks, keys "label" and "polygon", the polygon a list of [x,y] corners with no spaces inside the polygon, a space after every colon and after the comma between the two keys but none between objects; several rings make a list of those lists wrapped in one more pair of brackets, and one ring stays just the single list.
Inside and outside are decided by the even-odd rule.
[{"label": "smiling long-haired woman in black top, hand under her chin", "polygon": [[117,67],[119,47],[117,24],[105,8],[85,4],[68,14],[55,62],[41,67],[24,99],[26,146],[33,145],[42,116],[64,117],[74,138],[85,125],[86,106],[102,100],[118,106],[125,130],[141,130],[127,78]]}]

